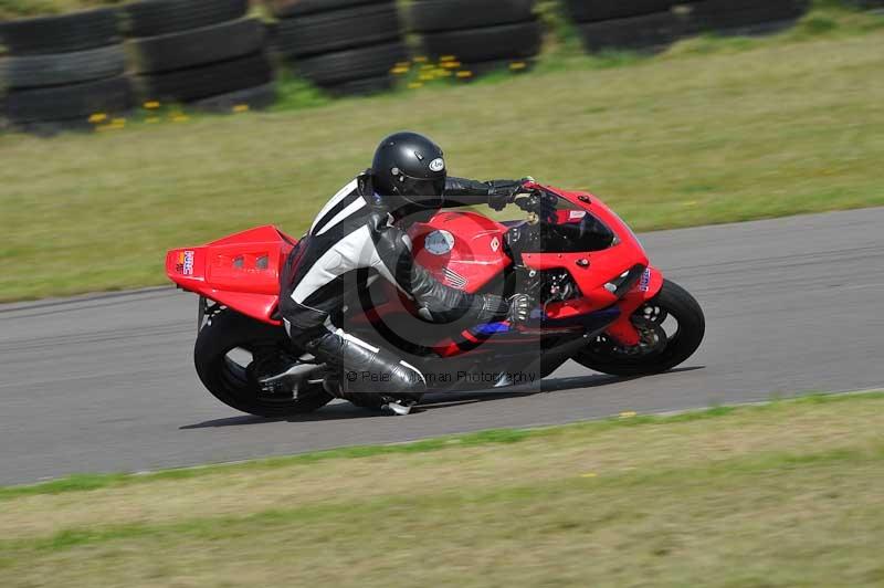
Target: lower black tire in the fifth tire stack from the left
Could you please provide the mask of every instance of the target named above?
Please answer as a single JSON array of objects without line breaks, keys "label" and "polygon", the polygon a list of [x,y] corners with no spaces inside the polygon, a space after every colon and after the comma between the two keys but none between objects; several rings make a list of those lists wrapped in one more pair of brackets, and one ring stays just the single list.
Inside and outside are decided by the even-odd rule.
[{"label": "lower black tire in the fifth tire stack from the left", "polygon": [[659,12],[630,19],[579,24],[583,45],[589,52],[604,50],[659,50],[686,33],[684,20],[674,12]]}]

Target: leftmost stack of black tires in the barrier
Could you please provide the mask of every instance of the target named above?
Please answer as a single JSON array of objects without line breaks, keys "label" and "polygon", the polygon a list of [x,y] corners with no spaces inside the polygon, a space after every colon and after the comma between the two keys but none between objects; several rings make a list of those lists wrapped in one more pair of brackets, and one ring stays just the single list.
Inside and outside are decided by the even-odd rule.
[{"label": "leftmost stack of black tires in the barrier", "polygon": [[13,127],[87,126],[131,107],[117,12],[99,9],[0,23],[0,87]]}]

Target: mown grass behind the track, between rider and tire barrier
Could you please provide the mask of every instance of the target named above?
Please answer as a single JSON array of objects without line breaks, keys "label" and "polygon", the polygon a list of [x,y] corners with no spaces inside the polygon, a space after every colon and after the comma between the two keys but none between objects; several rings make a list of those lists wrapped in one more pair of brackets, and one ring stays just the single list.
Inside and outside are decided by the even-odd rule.
[{"label": "mown grass behind the track, between rider and tire barrier", "polygon": [[297,235],[402,128],[443,144],[455,175],[590,188],[639,230],[884,204],[882,23],[818,10],[778,38],[653,59],[554,46],[495,83],[333,103],[288,83],[270,113],[3,135],[0,300],[161,284],[166,249],[254,224]]}]

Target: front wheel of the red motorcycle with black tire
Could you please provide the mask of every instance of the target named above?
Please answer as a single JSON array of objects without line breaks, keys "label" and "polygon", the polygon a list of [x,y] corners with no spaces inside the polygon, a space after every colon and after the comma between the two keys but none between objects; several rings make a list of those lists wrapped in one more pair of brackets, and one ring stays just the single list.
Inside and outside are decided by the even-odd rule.
[{"label": "front wheel of the red motorcycle with black tire", "polygon": [[[633,324],[643,325],[645,332],[653,334],[663,329],[666,318],[672,317],[677,328],[655,346],[636,351],[622,349],[600,335],[581,349],[573,360],[583,367],[612,376],[648,376],[674,368],[694,355],[706,332],[706,319],[697,301],[683,287],[664,280],[660,293],[640,307],[633,316]],[[659,332],[657,332],[659,333]],[[663,340],[665,338],[665,340]]]}]

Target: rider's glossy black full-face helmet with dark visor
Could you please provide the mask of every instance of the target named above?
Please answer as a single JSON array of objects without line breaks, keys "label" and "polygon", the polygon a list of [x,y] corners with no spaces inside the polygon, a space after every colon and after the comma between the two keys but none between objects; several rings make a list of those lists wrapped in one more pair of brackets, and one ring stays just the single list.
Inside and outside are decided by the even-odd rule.
[{"label": "rider's glossy black full-face helmet with dark visor", "polygon": [[391,208],[442,208],[445,159],[439,145],[423,135],[396,133],[383,139],[371,170],[375,191]]}]

